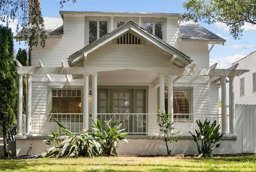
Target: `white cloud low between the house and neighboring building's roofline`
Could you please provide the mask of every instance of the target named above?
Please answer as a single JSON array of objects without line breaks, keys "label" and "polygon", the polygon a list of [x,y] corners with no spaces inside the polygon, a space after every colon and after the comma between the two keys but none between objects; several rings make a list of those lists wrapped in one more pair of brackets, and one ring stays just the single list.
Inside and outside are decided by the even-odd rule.
[{"label": "white cloud low between the house and neighboring building's roofline", "polygon": [[233,56],[227,56],[224,58],[214,58],[210,59],[210,66],[214,63],[218,63],[218,69],[227,69],[232,66],[232,63],[237,62],[241,58],[244,58],[246,53],[234,54]]}]

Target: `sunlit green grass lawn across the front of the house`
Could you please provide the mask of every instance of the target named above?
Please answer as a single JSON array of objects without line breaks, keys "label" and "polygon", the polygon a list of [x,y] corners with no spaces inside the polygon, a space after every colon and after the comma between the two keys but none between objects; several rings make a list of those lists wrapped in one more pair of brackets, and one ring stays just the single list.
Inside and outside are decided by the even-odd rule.
[{"label": "sunlit green grass lawn across the front of the house", "polygon": [[97,157],[97,158],[40,158],[34,160],[0,159],[1,172],[202,172],[256,171],[256,154],[234,157],[182,158],[158,157]]}]

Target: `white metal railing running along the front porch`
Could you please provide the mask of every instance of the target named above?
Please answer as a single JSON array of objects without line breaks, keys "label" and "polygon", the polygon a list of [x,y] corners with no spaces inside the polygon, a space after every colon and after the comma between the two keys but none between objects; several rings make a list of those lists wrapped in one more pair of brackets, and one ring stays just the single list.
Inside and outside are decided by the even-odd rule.
[{"label": "white metal railing running along the front porch", "polygon": [[[56,121],[61,122],[66,129],[72,133],[81,133],[83,129],[83,114],[34,114],[32,117],[32,134],[48,134],[50,132],[56,133],[60,129]],[[159,135],[159,118],[154,114],[98,114],[98,118],[104,124],[108,121],[111,125],[115,120],[123,121],[121,128],[126,128],[123,132],[137,135]],[[110,119],[112,120],[110,121]],[[189,134],[198,129],[196,120],[204,122],[205,119],[213,122],[216,120],[217,125],[221,124],[220,114],[174,114],[174,132],[180,131],[181,134]],[[91,126],[91,117],[88,119],[89,126]],[[227,116],[228,123],[228,116]],[[227,125],[228,126],[228,125]],[[25,127],[25,125],[24,125]],[[90,128],[89,128],[90,129]],[[64,131],[61,131],[64,133]]]}]

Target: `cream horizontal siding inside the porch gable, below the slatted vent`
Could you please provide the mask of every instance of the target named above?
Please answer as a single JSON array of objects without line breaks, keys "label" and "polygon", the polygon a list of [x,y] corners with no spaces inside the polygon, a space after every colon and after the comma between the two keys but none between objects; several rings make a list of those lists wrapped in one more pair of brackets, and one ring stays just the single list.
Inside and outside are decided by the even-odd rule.
[{"label": "cream horizontal siding inside the porch gable, below the slatted vent", "polygon": [[88,54],[85,66],[170,66],[166,54],[145,42],[144,46],[114,45],[112,42]]}]

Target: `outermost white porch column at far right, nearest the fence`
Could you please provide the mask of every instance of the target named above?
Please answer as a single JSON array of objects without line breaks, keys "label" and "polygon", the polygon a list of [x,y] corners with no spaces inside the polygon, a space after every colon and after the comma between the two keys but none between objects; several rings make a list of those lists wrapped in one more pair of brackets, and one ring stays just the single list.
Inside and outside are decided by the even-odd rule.
[{"label": "outermost white porch column at far right, nearest the fence", "polygon": [[229,76],[229,133],[235,134],[234,76]]}]

